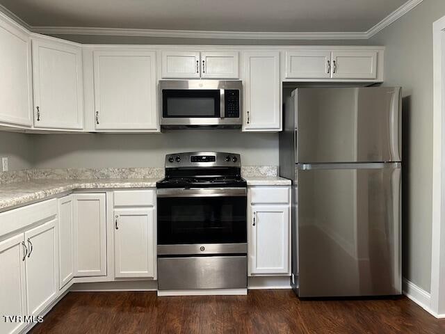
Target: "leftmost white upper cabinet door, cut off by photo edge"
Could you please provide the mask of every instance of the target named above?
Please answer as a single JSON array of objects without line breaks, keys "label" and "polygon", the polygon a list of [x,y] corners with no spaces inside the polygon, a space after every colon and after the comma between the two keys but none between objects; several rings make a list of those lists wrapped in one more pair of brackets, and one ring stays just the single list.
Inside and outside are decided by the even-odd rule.
[{"label": "leftmost white upper cabinet door, cut off by photo edge", "polygon": [[31,127],[31,39],[0,18],[0,45],[0,122]]}]

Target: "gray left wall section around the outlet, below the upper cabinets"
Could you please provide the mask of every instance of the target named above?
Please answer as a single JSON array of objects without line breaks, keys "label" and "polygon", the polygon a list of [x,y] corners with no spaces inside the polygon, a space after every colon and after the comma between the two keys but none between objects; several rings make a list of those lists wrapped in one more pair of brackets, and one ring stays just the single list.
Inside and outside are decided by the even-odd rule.
[{"label": "gray left wall section around the outlet, below the upper cabinets", "polygon": [[[0,157],[9,158],[9,170],[33,166],[33,139],[26,134],[0,132]],[[0,166],[1,170],[1,166]]]}]

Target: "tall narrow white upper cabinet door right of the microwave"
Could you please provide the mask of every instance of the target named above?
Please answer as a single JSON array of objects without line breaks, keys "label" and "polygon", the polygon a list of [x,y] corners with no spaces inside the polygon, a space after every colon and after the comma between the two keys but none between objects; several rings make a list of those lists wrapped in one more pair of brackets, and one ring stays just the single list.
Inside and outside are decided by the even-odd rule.
[{"label": "tall narrow white upper cabinet door right of the microwave", "polygon": [[244,131],[280,131],[280,52],[246,52]]}]

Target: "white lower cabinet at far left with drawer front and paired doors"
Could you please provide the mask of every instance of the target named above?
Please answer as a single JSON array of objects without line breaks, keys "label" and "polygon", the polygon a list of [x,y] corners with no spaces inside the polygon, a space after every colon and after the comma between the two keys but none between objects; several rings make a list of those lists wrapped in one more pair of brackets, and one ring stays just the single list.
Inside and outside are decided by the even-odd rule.
[{"label": "white lower cabinet at far left with drawer front and paired doors", "polygon": [[[21,333],[58,296],[56,200],[0,214],[0,333]],[[40,225],[36,225],[40,224]],[[34,226],[26,228],[26,226]],[[0,239],[2,236],[0,235]],[[8,317],[5,321],[4,317]],[[35,318],[34,318],[35,319]]]}]

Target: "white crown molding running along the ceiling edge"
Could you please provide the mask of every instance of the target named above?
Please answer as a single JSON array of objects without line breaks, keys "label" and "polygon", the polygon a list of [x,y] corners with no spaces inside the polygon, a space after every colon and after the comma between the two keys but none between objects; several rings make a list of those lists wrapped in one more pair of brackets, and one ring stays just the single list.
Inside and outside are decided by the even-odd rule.
[{"label": "white crown molding running along the ceiling edge", "polygon": [[254,31],[194,31],[165,29],[121,29],[121,28],[89,28],[70,26],[30,26],[10,10],[0,5],[0,11],[6,13],[26,29],[34,33],[46,35],[109,35],[136,36],[154,38],[214,38],[233,40],[366,40],[389,24],[408,13],[423,0],[409,0],[394,10],[393,13],[363,32],[254,32]]}]

